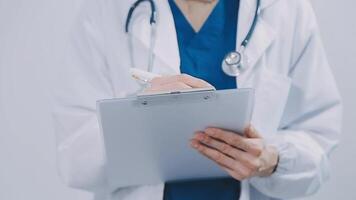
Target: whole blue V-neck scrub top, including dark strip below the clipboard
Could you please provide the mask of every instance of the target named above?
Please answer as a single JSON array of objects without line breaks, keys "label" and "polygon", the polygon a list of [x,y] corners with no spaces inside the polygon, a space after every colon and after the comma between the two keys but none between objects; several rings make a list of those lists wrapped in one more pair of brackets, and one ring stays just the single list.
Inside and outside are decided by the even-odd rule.
[{"label": "whole blue V-neck scrub top, including dark strip below the clipboard", "polygon": [[[221,63],[236,49],[238,0],[220,0],[199,32],[181,10],[168,0],[177,31],[180,70],[212,84],[216,89],[236,88],[234,77],[225,75]],[[164,200],[236,200],[240,182],[232,178],[166,183]]]}]

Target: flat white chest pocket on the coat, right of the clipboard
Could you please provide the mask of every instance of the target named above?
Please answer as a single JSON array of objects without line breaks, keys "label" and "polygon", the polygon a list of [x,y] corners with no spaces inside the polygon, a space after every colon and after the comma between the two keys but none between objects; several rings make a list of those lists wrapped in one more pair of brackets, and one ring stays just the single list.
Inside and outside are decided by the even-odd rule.
[{"label": "flat white chest pocket on the coat, right of the clipboard", "polygon": [[266,68],[256,78],[252,124],[268,137],[278,129],[292,81]]}]

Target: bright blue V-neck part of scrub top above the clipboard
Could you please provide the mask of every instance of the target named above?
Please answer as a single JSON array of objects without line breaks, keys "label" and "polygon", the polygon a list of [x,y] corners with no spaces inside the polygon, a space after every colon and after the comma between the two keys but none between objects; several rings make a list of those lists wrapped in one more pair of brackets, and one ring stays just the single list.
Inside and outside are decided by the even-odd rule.
[{"label": "bright blue V-neck part of scrub top above the clipboard", "polygon": [[227,76],[221,63],[227,53],[236,50],[239,0],[220,0],[197,33],[174,0],[168,1],[177,31],[181,72],[218,90],[236,88],[235,77]]}]

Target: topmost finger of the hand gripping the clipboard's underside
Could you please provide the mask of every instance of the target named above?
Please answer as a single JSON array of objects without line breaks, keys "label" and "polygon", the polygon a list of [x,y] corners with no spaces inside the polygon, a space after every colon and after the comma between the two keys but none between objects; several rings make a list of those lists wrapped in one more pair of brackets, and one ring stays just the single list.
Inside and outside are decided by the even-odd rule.
[{"label": "topmost finger of the hand gripping the clipboard's underside", "polygon": [[247,151],[249,148],[248,143],[245,142],[246,138],[237,133],[225,131],[219,128],[207,128],[204,132],[210,137],[224,141],[225,143],[239,149]]}]

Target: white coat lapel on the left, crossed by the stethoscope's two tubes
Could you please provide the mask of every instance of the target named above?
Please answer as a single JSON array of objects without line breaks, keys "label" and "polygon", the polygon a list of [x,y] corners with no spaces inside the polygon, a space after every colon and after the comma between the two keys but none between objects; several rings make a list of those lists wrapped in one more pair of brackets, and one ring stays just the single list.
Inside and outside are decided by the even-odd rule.
[{"label": "white coat lapel on the left, crossed by the stethoscope's two tubes", "polygon": [[[164,71],[165,73],[180,73],[180,58],[177,43],[177,34],[169,3],[168,1],[160,1],[159,3],[156,3],[156,7],[158,20],[156,23],[156,32],[154,33],[155,59],[153,64],[153,71]],[[142,6],[137,8],[134,14],[135,18],[141,19],[137,20],[133,18],[132,20],[135,21],[132,22],[132,25],[134,26],[132,31],[134,39],[137,39],[141,43],[143,43],[144,47],[147,48],[147,52],[149,50],[151,41],[151,27],[149,24],[150,12],[151,9],[149,7],[149,4],[143,3]],[[141,17],[139,17],[140,15]]]}]

